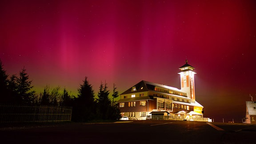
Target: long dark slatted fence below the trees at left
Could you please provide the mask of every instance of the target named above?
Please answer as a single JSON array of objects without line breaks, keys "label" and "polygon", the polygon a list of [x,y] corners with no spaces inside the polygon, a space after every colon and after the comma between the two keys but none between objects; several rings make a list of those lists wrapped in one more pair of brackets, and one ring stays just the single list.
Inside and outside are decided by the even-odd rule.
[{"label": "long dark slatted fence below the trees at left", "polygon": [[72,107],[0,105],[0,123],[71,121]]}]

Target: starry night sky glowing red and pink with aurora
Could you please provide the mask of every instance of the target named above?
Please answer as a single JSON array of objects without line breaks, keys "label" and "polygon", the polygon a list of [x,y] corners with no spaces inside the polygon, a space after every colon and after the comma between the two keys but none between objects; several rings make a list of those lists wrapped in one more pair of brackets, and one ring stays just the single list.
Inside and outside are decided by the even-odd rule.
[{"label": "starry night sky glowing red and pink with aurora", "polygon": [[254,0],[1,0],[0,59],[24,67],[37,93],[76,95],[88,76],[119,93],[141,80],[180,89],[195,67],[196,101],[214,121],[242,122],[256,100]]}]

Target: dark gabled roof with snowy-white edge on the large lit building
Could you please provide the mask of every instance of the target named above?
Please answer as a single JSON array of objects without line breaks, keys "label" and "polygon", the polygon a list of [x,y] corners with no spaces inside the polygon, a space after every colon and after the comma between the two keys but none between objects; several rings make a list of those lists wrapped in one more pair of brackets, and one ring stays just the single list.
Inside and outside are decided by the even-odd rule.
[{"label": "dark gabled roof with snowy-white edge on the large lit building", "polygon": [[[161,87],[161,88],[172,89],[172,90],[181,92],[181,90],[178,89],[178,88],[173,88],[173,87],[170,87],[170,86],[167,86],[167,85],[156,84],[156,83],[148,82],[148,81],[145,81],[145,80],[141,80],[138,84],[132,86],[131,88],[129,88],[125,92],[121,93],[120,95],[129,94],[129,93],[136,93],[136,92],[147,92],[149,90],[153,91],[155,86]],[[136,91],[132,92],[133,87],[136,87]]]}]

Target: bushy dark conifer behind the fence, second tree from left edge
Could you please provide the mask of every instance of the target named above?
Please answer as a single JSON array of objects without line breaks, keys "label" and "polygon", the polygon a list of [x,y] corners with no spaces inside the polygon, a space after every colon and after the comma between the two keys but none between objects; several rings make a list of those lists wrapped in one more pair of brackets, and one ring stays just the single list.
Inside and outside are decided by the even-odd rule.
[{"label": "bushy dark conifer behind the fence, second tree from left edge", "polygon": [[16,75],[11,76],[9,88],[11,88],[17,104],[32,104],[35,91],[32,91],[32,81],[28,79],[29,76],[24,68],[18,77]]}]

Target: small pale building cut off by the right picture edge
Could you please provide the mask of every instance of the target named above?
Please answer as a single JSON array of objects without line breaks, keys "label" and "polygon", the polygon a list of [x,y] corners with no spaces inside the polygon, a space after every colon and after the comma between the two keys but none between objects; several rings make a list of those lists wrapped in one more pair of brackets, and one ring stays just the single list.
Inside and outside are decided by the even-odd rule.
[{"label": "small pale building cut off by the right picture edge", "polygon": [[246,124],[256,124],[256,101],[246,101]]}]

